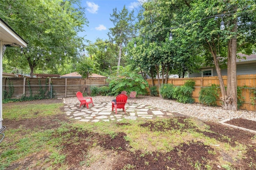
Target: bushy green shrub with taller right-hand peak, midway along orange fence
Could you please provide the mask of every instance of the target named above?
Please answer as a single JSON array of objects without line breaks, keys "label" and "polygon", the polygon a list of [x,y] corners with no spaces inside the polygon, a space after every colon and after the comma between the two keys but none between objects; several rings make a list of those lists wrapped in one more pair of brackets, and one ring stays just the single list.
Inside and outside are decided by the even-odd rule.
[{"label": "bushy green shrub with taller right-hand peak, midway along orange fence", "polygon": [[173,98],[181,103],[194,103],[192,98],[192,92],[195,89],[196,82],[193,80],[188,80],[183,86],[178,86],[174,88]]}]

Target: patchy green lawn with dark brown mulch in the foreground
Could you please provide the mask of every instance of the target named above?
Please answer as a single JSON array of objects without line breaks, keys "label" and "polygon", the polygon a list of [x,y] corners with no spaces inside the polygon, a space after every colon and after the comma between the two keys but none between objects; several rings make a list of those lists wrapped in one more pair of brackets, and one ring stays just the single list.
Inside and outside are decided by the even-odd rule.
[{"label": "patchy green lawn with dark brown mulch in the foreground", "polygon": [[256,134],[191,117],[85,123],[62,100],[3,104],[3,116],[1,170],[256,168]]}]

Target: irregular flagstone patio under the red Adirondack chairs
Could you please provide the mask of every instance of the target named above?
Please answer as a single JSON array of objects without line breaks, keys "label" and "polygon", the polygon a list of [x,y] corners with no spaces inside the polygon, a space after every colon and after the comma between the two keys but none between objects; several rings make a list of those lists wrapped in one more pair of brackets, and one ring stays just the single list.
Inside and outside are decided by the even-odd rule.
[{"label": "irregular flagstone patio under the red Adirondack chairs", "polygon": [[125,105],[126,113],[122,109],[112,111],[112,104],[108,102],[94,103],[94,106],[87,107],[76,104],[66,104],[64,110],[70,119],[77,119],[82,122],[99,122],[99,121],[122,121],[123,119],[130,119],[136,121],[140,119],[153,119],[156,117],[173,117],[175,111],[168,111],[158,107],[147,106],[145,104],[131,104]]}]

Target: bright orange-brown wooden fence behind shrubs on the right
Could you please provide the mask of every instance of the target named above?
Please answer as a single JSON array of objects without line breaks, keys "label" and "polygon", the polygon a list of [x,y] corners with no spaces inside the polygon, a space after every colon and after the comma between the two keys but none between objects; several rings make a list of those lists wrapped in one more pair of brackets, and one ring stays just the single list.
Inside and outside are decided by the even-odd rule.
[{"label": "bright orange-brown wooden fence behind shrubs on the right", "polygon": [[[224,85],[227,85],[227,76],[222,76]],[[192,97],[195,99],[195,102],[199,102],[199,92],[201,88],[209,87],[212,84],[220,84],[218,80],[218,76],[212,76],[212,77],[195,77],[195,78],[168,78],[167,83],[173,84],[174,86],[182,86],[187,80],[194,80],[196,82],[195,84],[195,90],[193,91]],[[152,86],[152,79],[148,79],[149,87]],[[162,82],[162,79],[160,79],[160,83]],[[154,86],[158,86],[158,80],[154,79]],[[241,96],[242,100],[244,101],[243,106],[240,107],[240,109],[246,109],[246,110],[256,110],[256,103],[255,103],[255,92],[256,92],[256,74],[250,74],[250,75],[238,75],[237,76],[237,86],[242,87],[241,89]],[[148,90],[149,91],[149,90]],[[220,94],[221,96],[221,94]],[[217,99],[218,106],[221,106],[220,104],[220,98]]]}]

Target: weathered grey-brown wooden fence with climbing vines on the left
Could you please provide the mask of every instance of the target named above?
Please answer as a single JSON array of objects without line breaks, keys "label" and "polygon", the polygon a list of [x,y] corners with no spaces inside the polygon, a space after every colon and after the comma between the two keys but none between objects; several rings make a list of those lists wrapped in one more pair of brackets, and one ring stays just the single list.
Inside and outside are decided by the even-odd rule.
[{"label": "weathered grey-brown wooden fence with climbing vines on the left", "polygon": [[3,78],[3,92],[13,90],[12,98],[38,94],[40,88],[47,88],[54,98],[75,97],[78,91],[90,95],[90,86],[104,85],[106,78]]}]

